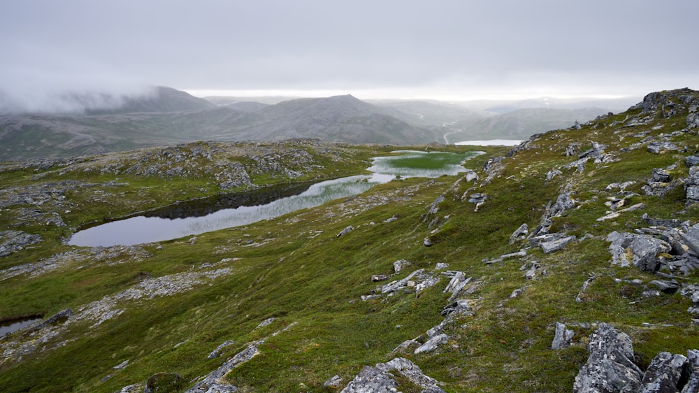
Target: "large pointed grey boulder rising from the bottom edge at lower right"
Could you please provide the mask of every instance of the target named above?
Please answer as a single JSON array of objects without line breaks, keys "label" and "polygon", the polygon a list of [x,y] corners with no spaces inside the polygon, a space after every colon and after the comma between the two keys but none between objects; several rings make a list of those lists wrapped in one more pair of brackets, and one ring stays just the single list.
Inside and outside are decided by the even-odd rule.
[{"label": "large pointed grey boulder rising from the bottom edge at lower right", "polygon": [[631,339],[607,323],[590,337],[590,356],[575,377],[574,393],[635,392],[643,372],[633,363]]}]

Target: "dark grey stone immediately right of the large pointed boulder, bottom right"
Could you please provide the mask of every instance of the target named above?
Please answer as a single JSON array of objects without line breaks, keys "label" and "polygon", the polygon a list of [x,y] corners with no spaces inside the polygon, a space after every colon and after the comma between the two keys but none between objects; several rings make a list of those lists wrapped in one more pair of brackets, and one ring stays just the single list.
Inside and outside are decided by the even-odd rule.
[{"label": "dark grey stone immediately right of the large pointed boulder, bottom right", "polygon": [[644,373],[641,385],[636,392],[679,392],[682,389],[680,379],[686,362],[687,358],[683,355],[672,355],[670,352],[658,353]]}]

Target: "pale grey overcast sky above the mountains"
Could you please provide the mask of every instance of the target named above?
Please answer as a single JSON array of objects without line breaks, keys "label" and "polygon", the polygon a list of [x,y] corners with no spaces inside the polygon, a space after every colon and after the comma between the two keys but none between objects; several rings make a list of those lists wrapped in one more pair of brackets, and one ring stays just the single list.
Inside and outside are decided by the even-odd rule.
[{"label": "pale grey overcast sky above the mountains", "polygon": [[0,90],[642,96],[699,88],[698,16],[696,0],[0,0]]}]

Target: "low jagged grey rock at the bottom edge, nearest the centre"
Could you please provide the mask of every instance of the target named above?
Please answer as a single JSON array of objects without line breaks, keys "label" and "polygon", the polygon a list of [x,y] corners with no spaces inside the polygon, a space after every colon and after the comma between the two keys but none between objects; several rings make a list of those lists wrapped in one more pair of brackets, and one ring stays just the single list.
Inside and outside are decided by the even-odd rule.
[{"label": "low jagged grey rock at the bottom edge, nearest the centre", "polygon": [[443,393],[439,382],[430,378],[408,359],[396,357],[387,363],[377,363],[376,366],[365,366],[359,374],[343,389],[343,393],[396,393],[401,385],[396,381],[394,372],[401,374],[413,385],[420,388],[421,393]]}]

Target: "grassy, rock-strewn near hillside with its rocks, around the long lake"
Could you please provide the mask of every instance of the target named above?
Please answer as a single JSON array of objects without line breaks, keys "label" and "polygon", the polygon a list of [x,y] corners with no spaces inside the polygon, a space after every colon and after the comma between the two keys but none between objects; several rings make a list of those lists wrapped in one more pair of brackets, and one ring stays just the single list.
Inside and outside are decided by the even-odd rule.
[{"label": "grassy, rock-strewn near hillside with its rocks, around the long lake", "polygon": [[[0,310],[52,312],[0,341],[0,385],[699,392],[698,132],[699,92],[653,93],[462,176],[394,181],[273,222],[129,248],[57,245],[75,222],[64,212],[78,205],[66,187],[81,182],[86,199],[140,178],[228,189],[244,185],[243,171],[195,164],[206,145],[143,164],[49,166],[60,179],[13,164],[6,173],[25,183],[0,199],[15,228],[0,232],[0,283],[22,300]],[[349,148],[322,149],[351,161]],[[297,156],[285,177],[333,165]],[[230,176],[217,176],[223,167]],[[31,171],[50,186],[20,176]],[[32,299],[41,294],[54,297]]]}]

